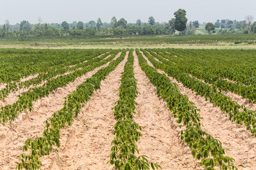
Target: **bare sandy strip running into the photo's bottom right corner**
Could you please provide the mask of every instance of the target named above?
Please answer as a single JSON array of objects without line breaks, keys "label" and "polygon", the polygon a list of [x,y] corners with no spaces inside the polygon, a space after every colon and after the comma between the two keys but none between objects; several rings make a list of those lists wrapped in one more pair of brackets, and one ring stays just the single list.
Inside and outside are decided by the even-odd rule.
[{"label": "bare sandy strip running into the photo's bottom right corner", "polygon": [[[152,65],[152,63],[150,64]],[[164,73],[161,70],[158,71]],[[200,109],[200,116],[204,118],[201,120],[204,125],[202,129],[221,141],[224,148],[229,149],[226,151],[226,155],[236,160],[237,168],[256,169],[256,138],[250,136],[249,130],[246,130],[245,126],[230,122],[220,108],[213,107],[209,101],[205,101],[204,97],[196,96],[182,83],[168,77],[180,87],[181,94],[187,95],[189,101],[195,103],[196,107]]]}]

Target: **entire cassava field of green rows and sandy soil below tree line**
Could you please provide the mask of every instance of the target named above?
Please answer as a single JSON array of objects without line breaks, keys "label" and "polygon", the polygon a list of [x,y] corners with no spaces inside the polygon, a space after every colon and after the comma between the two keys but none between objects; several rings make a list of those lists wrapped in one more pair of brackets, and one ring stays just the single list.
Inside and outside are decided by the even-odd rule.
[{"label": "entire cassava field of green rows and sandy soil below tree line", "polygon": [[256,169],[255,36],[134,39],[1,40],[0,169]]}]

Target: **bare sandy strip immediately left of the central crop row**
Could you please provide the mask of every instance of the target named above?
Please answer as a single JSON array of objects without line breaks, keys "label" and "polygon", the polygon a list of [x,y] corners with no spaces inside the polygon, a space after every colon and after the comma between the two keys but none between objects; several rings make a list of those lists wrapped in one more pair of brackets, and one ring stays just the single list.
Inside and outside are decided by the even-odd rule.
[{"label": "bare sandy strip immediately left of the central crop row", "polygon": [[[61,135],[59,153],[49,155],[43,160],[42,169],[112,169],[109,161],[111,142],[114,139],[112,127],[115,124],[112,108],[119,99],[121,73],[127,61],[101,82],[101,89],[94,92],[91,99],[81,109],[72,127]],[[61,131],[62,133],[63,131]],[[47,156],[48,157],[48,156]],[[46,157],[46,158],[47,158]],[[48,167],[49,162],[52,162]]]}]

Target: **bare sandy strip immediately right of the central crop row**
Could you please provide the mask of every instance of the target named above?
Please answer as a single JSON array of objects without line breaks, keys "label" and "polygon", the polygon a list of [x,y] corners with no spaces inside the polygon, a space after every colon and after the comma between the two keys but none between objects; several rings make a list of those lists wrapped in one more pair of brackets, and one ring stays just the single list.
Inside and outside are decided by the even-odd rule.
[{"label": "bare sandy strip immediately right of the central crop row", "polygon": [[164,169],[200,169],[193,159],[188,146],[183,145],[177,134],[179,128],[170,119],[171,112],[162,99],[155,95],[155,88],[141,70],[138,57],[134,53],[134,73],[138,80],[139,95],[135,112],[135,122],[144,126],[138,149],[141,155],[159,164]]}]

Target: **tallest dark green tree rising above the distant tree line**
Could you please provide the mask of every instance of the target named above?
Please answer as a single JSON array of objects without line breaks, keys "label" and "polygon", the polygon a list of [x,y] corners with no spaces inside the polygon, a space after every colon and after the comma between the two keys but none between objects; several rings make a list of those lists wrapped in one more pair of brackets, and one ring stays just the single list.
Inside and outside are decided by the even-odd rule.
[{"label": "tallest dark green tree rising above the distant tree line", "polygon": [[174,12],[175,15],[175,29],[179,32],[184,31],[186,29],[186,24],[188,19],[186,18],[185,10],[177,10]]}]

